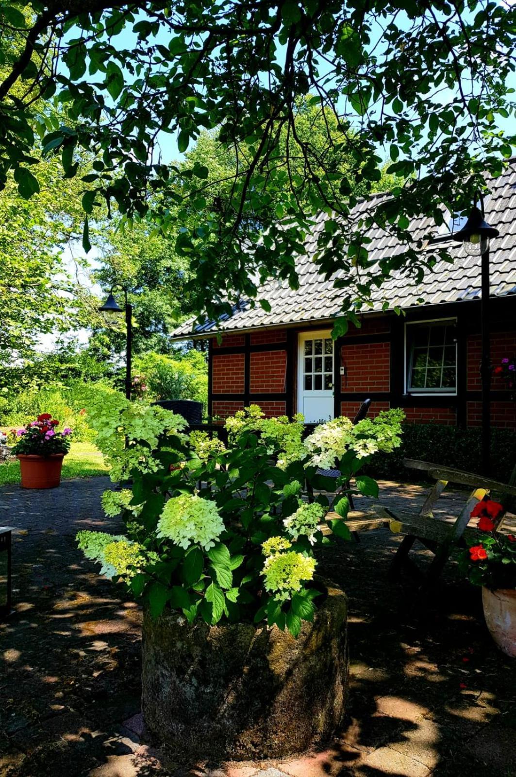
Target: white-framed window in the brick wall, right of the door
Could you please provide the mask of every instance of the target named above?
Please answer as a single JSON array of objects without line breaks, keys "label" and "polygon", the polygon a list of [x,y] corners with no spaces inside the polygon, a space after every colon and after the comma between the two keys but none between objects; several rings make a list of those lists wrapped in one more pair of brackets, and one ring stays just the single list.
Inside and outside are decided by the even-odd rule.
[{"label": "white-framed window in the brick wall, right of the door", "polygon": [[455,321],[407,324],[407,392],[455,394]]}]

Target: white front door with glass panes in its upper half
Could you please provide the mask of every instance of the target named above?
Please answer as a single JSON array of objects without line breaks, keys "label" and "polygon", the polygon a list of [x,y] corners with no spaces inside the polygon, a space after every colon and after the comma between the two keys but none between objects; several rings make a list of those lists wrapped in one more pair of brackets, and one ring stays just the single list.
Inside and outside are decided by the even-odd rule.
[{"label": "white front door with glass panes in its upper half", "polygon": [[329,330],[299,336],[297,409],[306,423],[334,416],[334,347]]}]

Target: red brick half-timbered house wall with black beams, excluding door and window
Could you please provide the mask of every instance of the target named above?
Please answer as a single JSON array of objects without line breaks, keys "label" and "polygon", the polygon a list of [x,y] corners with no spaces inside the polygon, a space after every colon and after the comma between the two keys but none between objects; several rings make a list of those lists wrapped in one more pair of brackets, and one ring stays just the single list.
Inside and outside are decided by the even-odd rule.
[{"label": "red brick half-timbered house wall with black beams, excluding door and window", "polygon": [[[516,297],[491,300],[493,364],[516,355]],[[405,389],[405,323],[456,319],[456,395],[407,394]],[[334,414],[355,416],[366,397],[370,416],[402,407],[410,423],[480,424],[480,302],[410,308],[405,316],[365,317],[360,329],[350,326],[335,343]],[[313,329],[320,329],[320,324]],[[298,332],[303,329],[258,329],[210,341],[209,412],[232,415],[251,403],[267,416],[296,412]],[[502,378],[493,375],[492,423],[516,429],[516,402]]]}]

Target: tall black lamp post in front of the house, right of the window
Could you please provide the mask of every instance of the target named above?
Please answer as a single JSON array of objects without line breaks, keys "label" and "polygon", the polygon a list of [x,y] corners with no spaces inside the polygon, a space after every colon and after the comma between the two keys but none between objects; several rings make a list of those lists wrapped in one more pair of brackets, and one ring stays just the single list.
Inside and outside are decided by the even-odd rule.
[{"label": "tall black lamp post in front of the house, right of the window", "polygon": [[473,207],[468,220],[453,239],[462,242],[469,256],[481,257],[481,293],[480,293],[480,339],[482,357],[480,360],[480,379],[482,381],[482,469],[483,475],[490,475],[490,444],[491,444],[491,346],[489,332],[489,244],[497,238],[500,232],[490,227],[484,220],[483,199],[480,206]]}]

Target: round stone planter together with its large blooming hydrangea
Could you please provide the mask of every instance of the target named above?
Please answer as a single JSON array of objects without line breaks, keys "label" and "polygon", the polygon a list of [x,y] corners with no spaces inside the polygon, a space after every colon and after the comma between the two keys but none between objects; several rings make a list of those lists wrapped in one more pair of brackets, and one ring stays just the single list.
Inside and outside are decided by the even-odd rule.
[{"label": "round stone planter together with its large blooming hydrangea", "polygon": [[[179,758],[279,758],[341,722],[346,598],[317,577],[314,549],[333,541],[327,523],[349,538],[327,511],[347,515],[351,477],[354,493],[377,494],[359,470],[400,444],[400,418],[336,419],[303,441],[301,417],[252,408],[227,421],[223,445],[187,436],[181,416],[160,407],[90,413],[102,453],[133,489],[102,497],[126,537],[80,532],[78,544],[143,602],[144,719]],[[334,500],[322,462],[341,470]]]}]

